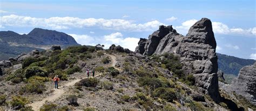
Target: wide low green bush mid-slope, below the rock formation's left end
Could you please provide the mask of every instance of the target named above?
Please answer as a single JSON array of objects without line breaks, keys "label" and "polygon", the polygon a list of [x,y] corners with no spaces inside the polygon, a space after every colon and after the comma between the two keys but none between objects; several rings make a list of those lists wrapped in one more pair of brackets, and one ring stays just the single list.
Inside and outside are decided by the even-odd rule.
[{"label": "wide low green bush mid-slope, below the rock formation's left end", "polygon": [[170,87],[170,82],[163,77],[159,78],[149,78],[149,77],[143,77],[139,78],[138,83],[140,86],[150,86],[152,90],[158,87]]}]

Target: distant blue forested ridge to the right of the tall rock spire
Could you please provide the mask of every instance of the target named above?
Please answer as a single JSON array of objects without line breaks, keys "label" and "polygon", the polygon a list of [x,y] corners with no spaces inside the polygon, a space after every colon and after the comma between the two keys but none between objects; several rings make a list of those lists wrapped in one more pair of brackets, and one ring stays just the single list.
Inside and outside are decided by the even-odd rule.
[{"label": "distant blue forested ridge to the right of the tall rock spire", "polygon": [[217,56],[219,70],[223,71],[224,75],[232,74],[238,76],[238,73],[242,67],[252,65],[255,62],[255,60],[243,59],[219,53],[217,53]]}]

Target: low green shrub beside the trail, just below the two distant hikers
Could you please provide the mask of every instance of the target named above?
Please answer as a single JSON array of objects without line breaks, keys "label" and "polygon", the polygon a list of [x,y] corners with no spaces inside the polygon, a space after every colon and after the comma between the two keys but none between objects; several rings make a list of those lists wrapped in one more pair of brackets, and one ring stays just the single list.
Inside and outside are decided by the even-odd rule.
[{"label": "low green shrub beside the trail, just below the two distant hikers", "polygon": [[96,87],[99,83],[97,78],[85,78],[77,82],[76,86]]}]

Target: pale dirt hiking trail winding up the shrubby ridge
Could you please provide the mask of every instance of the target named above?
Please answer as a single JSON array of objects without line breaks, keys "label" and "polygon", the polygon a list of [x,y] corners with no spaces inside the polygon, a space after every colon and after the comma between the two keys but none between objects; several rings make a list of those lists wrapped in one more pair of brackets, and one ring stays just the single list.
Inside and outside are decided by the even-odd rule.
[{"label": "pale dirt hiking trail winding up the shrubby ridge", "polygon": [[[115,65],[117,63],[116,56],[109,55],[109,54],[106,54],[106,55],[111,57],[112,63],[110,65],[113,66],[114,68],[116,68],[115,67]],[[116,69],[121,71],[121,69],[119,69],[119,68],[116,68]],[[95,75],[95,77],[98,77],[100,75]],[[84,78],[87,78],[87,77],[84,77]],[[84,78],[82,78],[82,79],[84,79]],[[40,110],[40,108],[44,105],[44,103],[46,101],[53,102],[56,99],[62,97],[62,95],[65,93],[65,87],[73,86],[73,85],[75,85],[77,82],[79,82],[82,79],[73,79],[71,82],[66,83],[66,84],[60,86],[59,89],[53,88],[52,95],[50,95],[49,97],[44,98],[43,100],[35,101],[33,103],[30,103],[28,106],[31,106],[33,110]]]}]

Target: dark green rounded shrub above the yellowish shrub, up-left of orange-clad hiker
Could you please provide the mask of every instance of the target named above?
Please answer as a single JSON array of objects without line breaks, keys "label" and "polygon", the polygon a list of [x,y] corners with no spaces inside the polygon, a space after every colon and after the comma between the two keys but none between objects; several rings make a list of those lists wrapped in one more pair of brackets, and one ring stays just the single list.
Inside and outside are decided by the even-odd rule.
[{"label": "dark green rounded shrub above the yellowish shrub, up-left of orange-clad hiker", "polygon": [[26,69],[25,71],[25,77],[29,78],[31,76],[42,76],[42,77],[46,77],[47,72],[41,68],[39,68],[38,66],[31,66],[28,69]]}]

